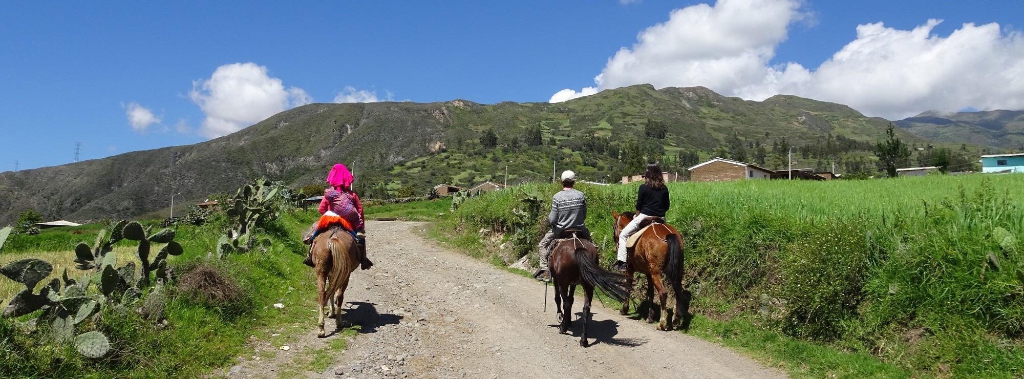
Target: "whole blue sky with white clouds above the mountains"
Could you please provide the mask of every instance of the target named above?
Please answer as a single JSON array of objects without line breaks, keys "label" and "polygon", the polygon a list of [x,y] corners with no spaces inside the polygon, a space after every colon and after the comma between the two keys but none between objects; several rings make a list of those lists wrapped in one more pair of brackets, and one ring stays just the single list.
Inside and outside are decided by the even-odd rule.
[{"label": "whole blue sky with white clouds above the mountains", "polygon": [[[76,141],[81,160],[201,142],[310,100],[547,101],[650,82],[890,119],[1024,108],[1024,2],[706,3],[4,2],[0,171],[70,163]],[[246,100],[247,84],[265,96]]]}]

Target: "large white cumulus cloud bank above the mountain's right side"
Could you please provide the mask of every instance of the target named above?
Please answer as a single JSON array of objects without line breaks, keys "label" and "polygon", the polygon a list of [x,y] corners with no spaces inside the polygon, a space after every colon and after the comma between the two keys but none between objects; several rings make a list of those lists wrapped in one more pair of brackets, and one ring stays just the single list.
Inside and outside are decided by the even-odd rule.
[{"label": "large white cumulus cloud bank above the mountain's right side", "polygon": [[[857,38],[817,69],[772,65],[788,27],[808,19],[801,4],[719,0],[673,10],[608,59],[593,92],[640,83],[699,85],[753,100],[795,94],[889,119],[926,110],[1024,108],[1024,38],[997,24],[965,24],[948,37],[932,34],[936,19],[908,31],[860,25]],[[586,90],[564,89],[552,102]]]}]

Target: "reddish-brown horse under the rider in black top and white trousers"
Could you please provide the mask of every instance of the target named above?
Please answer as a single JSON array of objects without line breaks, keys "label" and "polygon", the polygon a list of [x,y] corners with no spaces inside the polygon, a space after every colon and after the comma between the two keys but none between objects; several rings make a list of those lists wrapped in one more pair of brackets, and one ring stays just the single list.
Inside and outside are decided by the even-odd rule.
[{"label": "reddish-brown horse under the rider in black top and white trousers", "polygon": [[[618,235],[623,228],[633,220],[633,212],[623,212],[622,214],[611,211],[611,216],[615,219],[614,240],[615,248],[618,247]],[[653,217],[652,217],[653,218]],[[646,221],[646,220],[645,220]],[[679,230],[675,227],[663,223],[664,220],[655,219],[653,224],[643,231],[636,245],[627,249],[626,273],[629,277],[630,288],[633,287],[633,272],[640,272],[647,276],[647,300],[650,301],[650,308],[647,311],[647,322],[654,322],[653,290],[657,290],[657,297],[662,303],[662,317],[657,323],[657,330],[672,330],[679,323],[680,304],[682,304],[682,272],[683,272],[683,247]],[[639,233],[639,231],[638,231]],[[663,276],[672,286],[675,292],[675,304],[672,307],[672,322],[669,322],[669,294],[665,285],[662,284]],[[630,311],[630,302],[623,302],[623,309],[620,314],[626,315]]]}]

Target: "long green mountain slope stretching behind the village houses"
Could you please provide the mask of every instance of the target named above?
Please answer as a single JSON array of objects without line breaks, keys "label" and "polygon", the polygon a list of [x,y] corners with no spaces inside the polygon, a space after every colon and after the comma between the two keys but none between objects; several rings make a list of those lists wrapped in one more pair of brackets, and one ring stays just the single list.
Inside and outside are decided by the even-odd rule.
[{"label": "long green mountain slope stretching behind the village houses", "polygon": [[[664,128],[664,137],[657,130],[649,136],[651,125]],[[873,142],[887,125],[846,106],[796,96],[748,101],[702,87],[650,85],[554,104],[313,103],[202,143],[0,173],[0,224],[28,208],[46,219],[131,217],[166,208],[171,194],[181,193],[179,202],[203,200],[260,176],[293,186],[318,183],[337,162],[354,166],[364,197],[393,196],[402,186],[423,194],[441,182],[501,181],[506,165],[510,183],[550,177],[552,164],[585,179],[616,181],[638,173],[648,159],[682,171],[681,152],[703,159],[730,139],[752,149],[834,136]],[[494,148],[481,144],[485,131],[497,136]],[[774,153],[766,165],[780,168],[783,152]],[[795,158],[805,161],[802,167],[825,164]]]}]

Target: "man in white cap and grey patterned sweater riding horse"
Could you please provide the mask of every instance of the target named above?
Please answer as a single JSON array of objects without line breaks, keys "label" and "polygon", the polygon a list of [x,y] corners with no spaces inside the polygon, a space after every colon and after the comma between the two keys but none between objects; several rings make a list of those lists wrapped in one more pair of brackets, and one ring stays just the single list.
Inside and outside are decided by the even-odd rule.
[{"label": "man in white cap and grey patterned sweater riding horse", "polygon": [[575,173],[569,170],[562,172],[562,191],[551,199],[551,213],[548,214],[548,223],[551,229],[548,230],[541,243],[537,244],[537,254],[541,258],[541,268],[534,272],[534,278],[548,282],[551,280],[551,272],[548,268],[548,259],[551,258],[552,245],[556,239],[562,238],[564,230],[580,230],[577,237],[590,240],[590,230],[584,221],[587,219],[587,198],[578,190],[573,190],[575,184]]}]

